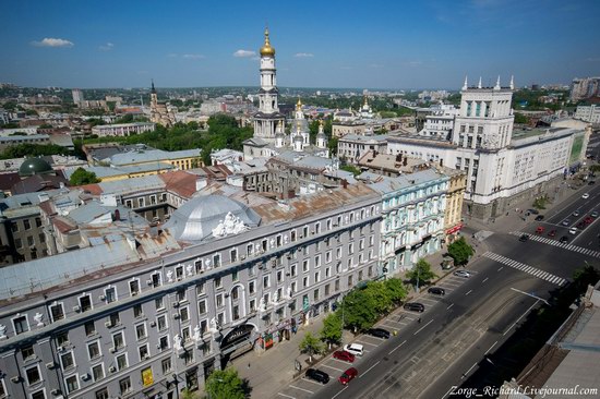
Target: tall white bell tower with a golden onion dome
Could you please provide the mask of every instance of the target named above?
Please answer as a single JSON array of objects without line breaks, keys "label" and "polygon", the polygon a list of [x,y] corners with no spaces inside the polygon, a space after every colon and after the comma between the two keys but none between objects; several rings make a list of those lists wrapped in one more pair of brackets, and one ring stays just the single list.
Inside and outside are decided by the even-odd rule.
[{"label": "tall white bell tower with a golden onion dome", "polygon": [[259,90],[259,112],[254,114],[254,137],[260,137],[269,144],[275,143],[275,134],[279,122],[286,118],[279,112],[275,69],[275,48],[271,46],[268,29],[265,28],[265,43],[261,48],[261,89]]}]

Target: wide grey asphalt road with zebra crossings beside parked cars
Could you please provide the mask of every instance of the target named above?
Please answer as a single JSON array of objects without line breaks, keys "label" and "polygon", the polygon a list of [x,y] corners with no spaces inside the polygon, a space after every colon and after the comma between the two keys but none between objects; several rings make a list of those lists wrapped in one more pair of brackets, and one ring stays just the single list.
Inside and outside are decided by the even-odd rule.
[{"label": "wide grey asphalt road with zebra crossings beside parked cars", "polygon": [[[565,188],[565,190],[571,190]],[[586,191],[589,198],[581,198]],[[447,398],[457,394],[461,382],[493,355],[508,339],[527,314],[553,290],[568,283],[576,268],[586,263],[599,265],[597,234],[600,221],[595,220],[571,234],[592,210],[600,211],[600,184],[575,192],[565,206],[544,214],[544,220],[531,221],[524,231],[494,233],[485,240],[487,250],[478,253],[468,270],[469,278],[446,277],[439,286],[446,295],[423,294],[423,314],[404,310],[394,312],[379,326],[397,330],[388,340],[358,336],[365,355],[353,364],[326,359],[319,368],[332,380],[322,386],[301,378],[278,394],[284,398]],[[579,217],[573,217],[579,210]],[[569,218],[568,226],[562,221]],[[538,226],[544,233],[536,234]],[[551,229],[554,238],[548,237]],[[518,237],[529,233],[520,242]],[[562,235],[569,242],[560,244]],[[480,249],[482,246],[479,246]],[[419,322],[420,317],[420,322]],[[353,366],[359,376],[348,386],[337,377]]]}]

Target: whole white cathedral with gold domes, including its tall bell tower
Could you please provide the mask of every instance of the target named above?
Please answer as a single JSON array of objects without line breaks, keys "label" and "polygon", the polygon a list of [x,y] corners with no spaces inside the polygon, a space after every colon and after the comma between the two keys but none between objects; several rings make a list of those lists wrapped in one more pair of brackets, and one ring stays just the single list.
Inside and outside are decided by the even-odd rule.
[{"label": "whole white cathedral with gold domes, including its tall bell tower", "polygon": [[265,29],[265,43],[261,48],[261,89],[259,90],[259,111],[254,114],[254,136],[243,142],[244,159],[265,158],[292,150],[298,156],[312,155],[329,157],[327,136],[323,132],[323,122],[319,126],[316,143],[311,144],[309,122],[302,112],[300,99],[296,105],[295,119],[290,122],[290,133],[286,134],[286,117],[277,105],[279,90],[275,69],[275,48],[271,46],[268,29]]}]

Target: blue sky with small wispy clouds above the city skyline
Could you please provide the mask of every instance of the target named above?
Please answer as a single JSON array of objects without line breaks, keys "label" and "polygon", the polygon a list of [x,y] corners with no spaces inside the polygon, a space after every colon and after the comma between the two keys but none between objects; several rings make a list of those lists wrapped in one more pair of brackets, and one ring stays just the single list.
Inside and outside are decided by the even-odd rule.
[{"label": "blue sky with small wispy clouds above the city skyline", "polygon": [[595,0],[20,0],[2,15],[0,82],[24,86],[254,86],[267,23],[279,86],[600,75]]}]

